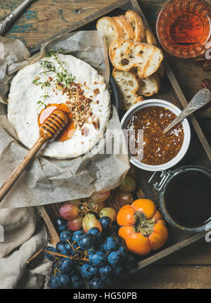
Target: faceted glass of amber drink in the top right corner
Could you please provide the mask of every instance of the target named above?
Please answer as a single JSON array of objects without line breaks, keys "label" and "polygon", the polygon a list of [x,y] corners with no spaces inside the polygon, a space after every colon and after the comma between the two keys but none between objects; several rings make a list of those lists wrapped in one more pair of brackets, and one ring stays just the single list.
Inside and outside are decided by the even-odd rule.
[{"label": "faceted glass of amber drink in the top right corner", "polygon": [[172,56],[202,56],[211,47],[211,7],[203,0],[172,0],[160,11],[156,31]]}]

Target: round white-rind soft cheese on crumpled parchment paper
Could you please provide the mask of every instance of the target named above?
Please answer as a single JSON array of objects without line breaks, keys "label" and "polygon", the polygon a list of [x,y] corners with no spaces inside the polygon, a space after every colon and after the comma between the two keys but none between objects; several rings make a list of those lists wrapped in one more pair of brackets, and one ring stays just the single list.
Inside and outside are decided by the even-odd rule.
[{"label": "round white-rind soft cheese on crumpled parchment paper", "polygon": [[[82,84],[83,95],[91,98],[90,108],[94,117],[98,119],[99,127],[87,121],[83,125],[89,131],[86,136],[82,134],[82,129],[77,126],[75,134],[67,141],[50,141],[40,150],[41,155],[65,159],[78,157],[89,152],[102,138],[106,130],[110,116],[110,94],[106,88],[105,79],[98,72],[82,60],[70,55],[57,55],[63,67],[75,77],[74,82]],[[56,70],[60,70],[60,65],[55,58],[44,58],[40,61],[48,60]],[[46,98],[46,104],[65,103],[68,101],[67,95],[62,90],[56,89],[56,74],[43,73],[40,61],[27,65],[20,70],[11,82],[11,89],[8,96],[8,120],[15,129],[19,140],[28,148],[32,148],[39,138],[39,126],[37,118],[44,105],[37,104],[41,96],[45,93],[50,97]],[[38,77],[37,77],[38,76]],[[33,80],[39,78],[39,82],[45,82],[46,77],[52,77],[51,85],[41,88],[41,85],[33,84]],[[53,82],[54,81],[54,82]],[[94,94],[97,91],[98,94]],[[88,132],[88,134],[87,134]]]}]

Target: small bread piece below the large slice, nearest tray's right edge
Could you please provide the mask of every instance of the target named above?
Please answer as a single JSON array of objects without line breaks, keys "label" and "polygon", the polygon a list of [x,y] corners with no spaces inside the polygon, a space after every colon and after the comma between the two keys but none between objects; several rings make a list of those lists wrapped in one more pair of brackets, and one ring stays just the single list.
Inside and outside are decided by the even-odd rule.
[{"label": "small bread piece below the large slice, nearest tray's right edge", "polygon": [[146,79],[140,79],[139,90],[137,93],[143,96],[153,96],[154,94],[158,94],[160,89],[160,77],[158,72],[151,75]]}]

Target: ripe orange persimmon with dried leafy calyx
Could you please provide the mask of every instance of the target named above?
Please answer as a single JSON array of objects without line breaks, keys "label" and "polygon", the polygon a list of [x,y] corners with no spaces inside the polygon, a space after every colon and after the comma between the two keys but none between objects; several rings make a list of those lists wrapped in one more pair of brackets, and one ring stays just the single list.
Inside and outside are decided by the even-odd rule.
[{"label": "ripe orange persimmon with dried leafy calyx", "polygon": [[148,199],[135,200],[132,205],[124,205],[117,214],[119,236],[124,238],[128,250],[136,254],[148,254],[158,250],[168,238],[165,221]]}]

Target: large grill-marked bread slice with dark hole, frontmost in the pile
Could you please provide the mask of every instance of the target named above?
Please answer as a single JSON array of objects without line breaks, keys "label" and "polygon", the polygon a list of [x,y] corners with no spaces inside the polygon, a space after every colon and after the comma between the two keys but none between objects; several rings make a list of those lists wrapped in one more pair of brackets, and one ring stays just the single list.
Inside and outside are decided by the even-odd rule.
[{"label": "large grill-marked bread slice with dark hole, frontmost in the pile", "polygon": [[153,75],[163,58],[158,47],[123,38],[116,39],[110,44],[109,56],[117,70],[129,71],[132,67],[137,67],[140,79]]}]

